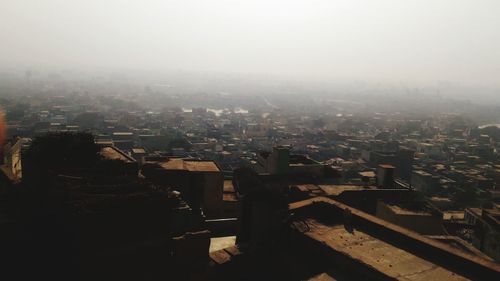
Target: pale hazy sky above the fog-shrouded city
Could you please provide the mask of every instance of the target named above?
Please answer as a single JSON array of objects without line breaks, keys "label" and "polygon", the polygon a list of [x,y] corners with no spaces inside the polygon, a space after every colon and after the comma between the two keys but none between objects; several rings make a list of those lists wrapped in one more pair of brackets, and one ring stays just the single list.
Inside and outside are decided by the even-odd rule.
[{"label": "pale hazy sky above the fog-shrouded city", "polygon": [[0,0],[0,63],[500,86],[500,1]]}]

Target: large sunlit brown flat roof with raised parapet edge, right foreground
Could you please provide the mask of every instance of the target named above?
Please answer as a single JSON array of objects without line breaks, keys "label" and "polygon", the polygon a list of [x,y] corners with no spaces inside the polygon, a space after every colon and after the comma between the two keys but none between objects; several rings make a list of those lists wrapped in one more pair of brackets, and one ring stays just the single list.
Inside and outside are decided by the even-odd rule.
[{"label": "large sunlit brown flat roof with raised parapet edge, right foreground", "polygon": [[[494,280],[500,266],[339,202],[314,198],[290,205],[292,228],[313,253],[366,280]],[[301,211],[302,210],[302,211]],[[356,276],[356,275],[353,275]],[[335,277],[335,276],[334,276]],[[356,279],[356,278],[353,278]]]}]

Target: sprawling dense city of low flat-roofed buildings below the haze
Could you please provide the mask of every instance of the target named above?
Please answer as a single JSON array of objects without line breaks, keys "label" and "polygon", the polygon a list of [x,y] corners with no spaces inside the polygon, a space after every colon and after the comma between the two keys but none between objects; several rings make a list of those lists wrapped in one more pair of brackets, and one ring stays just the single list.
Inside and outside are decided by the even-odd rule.
[{"label": "sprawling dense city of low flat-roofed buildings below the haze", "polygon": [[[132,194],[146,192],[141,188],[163,192],[151,200],[169,206],[167,226],[155,228],[168,239],[153,244],[168,248],[178,269],[196,265],[179,276],[494,280],[500,274],[499,130],[453,114],[307,114],[274,106],[151,111],[127,110],[118,97],[101,102],[78,95],[7,107],[13,118],[1,194],[38,181],[34,159],[25,156],[37,138],[85,131],[94,136],[101,172],[58,168],[47,183],[65,190],[72,204],[123,192],[117,190],[132,201]],[[75,208],[108,206],[99,199],[102,206],[88,207],[93,199],[87,199]],[[144,214],[153,212],[147,204]],[[216,237],[232,237],[234,245],[209,251]],[[280,260],[273,268],[259,262],[271,257]],[[245,276],[240,271],[248,264],[255,271]]]}]

